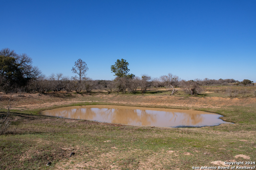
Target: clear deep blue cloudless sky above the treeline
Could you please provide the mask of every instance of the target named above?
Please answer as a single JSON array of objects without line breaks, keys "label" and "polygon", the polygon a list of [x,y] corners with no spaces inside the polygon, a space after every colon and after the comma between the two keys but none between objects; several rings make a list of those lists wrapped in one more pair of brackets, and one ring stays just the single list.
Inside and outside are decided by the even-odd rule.
[{"label": "clear deep blue cloudless sky above the treeline", "polygon": [[256,80],[256,0],[1,0],[0,49],[26,53],[49,76]]}]

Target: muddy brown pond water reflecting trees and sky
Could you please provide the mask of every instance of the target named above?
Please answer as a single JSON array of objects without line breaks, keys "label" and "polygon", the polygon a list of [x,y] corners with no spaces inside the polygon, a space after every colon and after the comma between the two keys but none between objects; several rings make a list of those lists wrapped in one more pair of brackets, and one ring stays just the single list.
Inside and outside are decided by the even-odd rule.
[{"label": "muddy brown pond water reflecting trees and sky", "polygon": [[62,107],[43,111],[42,114],[106,123],[156,127],[202,127],[230,123],[219,119],[221,115],[204,111],[111,105]]}]

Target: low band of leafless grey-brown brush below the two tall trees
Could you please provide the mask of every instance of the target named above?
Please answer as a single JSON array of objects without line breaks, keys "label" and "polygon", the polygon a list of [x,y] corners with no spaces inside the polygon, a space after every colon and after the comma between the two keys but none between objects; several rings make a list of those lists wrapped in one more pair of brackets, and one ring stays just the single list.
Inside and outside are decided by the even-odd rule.
[{"label": "low band of leafless grey-brown brush below the two tall trees", "polygon": [[[238,82],[234,79],[220,79],[211,80],[205,78],[204,80],[180,80],[178,76],[173,76],[168,74],[167,76],[161,76],[160,78],[152,79],[150,76],[142,76],[134,78],[119,78],[116,77],[114,80],[92,80],[90,78],[85,78],[79,82],[78,80],[72,80],[67,77],[50,76],[48,78],[41,78],[37,80],[30,80],[27,86],[24,87],[26,92],[50,92],[50,91],[61,91],[65,90],[67,92],[75,91],[77,93],[81,91],[91,92],[96,90],[102,92],[103,90],[108,93],[111,92],[128,92],[136,93],[139,88],[142,93],[145,93],[149,88],[160,88],[165,87],[168,90],[174,90],[179,88],[189,88],[192,86],[253,86],[254,83],[243,84],[243,82]],[[231,84],[232,83],[232,84]],[[200,92],[198,92],[199,94]]]}]

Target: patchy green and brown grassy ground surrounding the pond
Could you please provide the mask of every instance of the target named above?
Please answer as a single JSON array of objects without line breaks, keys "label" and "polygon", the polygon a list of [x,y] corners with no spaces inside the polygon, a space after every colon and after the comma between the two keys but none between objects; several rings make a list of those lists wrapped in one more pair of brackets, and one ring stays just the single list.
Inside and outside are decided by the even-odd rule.
[{"label": "patchy green and brown grassy ground surrounding the pond", "polygon": [[[252,94],[256,87],[246,87],[244,97],[227,97],[226,88],[204,87],[198,96],[182,90],[170,96],[165,89],[152,89],[144,95],[15,94],[12,123],[0,136],[0,169],[190,170],[192,166],[226,167],[225,161],[256,167],[245,164],[256,161],[256,97]],[[7,103],[8,96],[2,96],[2,113]],[[152,128],[40,115],[45,109],[90,104],[210,111],[234,124]],[[75,154],[70,157],[71,152]],[[50,166],[46,166],[48,161]]]}]

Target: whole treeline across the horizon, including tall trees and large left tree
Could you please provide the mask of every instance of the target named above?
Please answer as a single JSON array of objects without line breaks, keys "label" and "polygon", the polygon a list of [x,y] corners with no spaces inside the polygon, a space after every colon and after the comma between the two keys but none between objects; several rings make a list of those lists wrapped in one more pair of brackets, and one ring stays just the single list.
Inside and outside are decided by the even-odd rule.
[{"label": "whole treeline across the horizon, including tall trees and large left tree", "polygon": [[128,74],[129,63],[121,59],[111,66],[111,71],[115,73],[114,80],[92,80],[86,77],[85,72],[88,67],[84,61],[79,59],[75,62],[72,72],[78,74],[72,78],[63,76],[63,74],[52,74],[46,77],[37,68],[32,66],[32,59],[26,54],[18,55],[13,50],[2,49],[0,51],[0,91],[1,92],[30,92],[30,93],[45,93],[51,91],[67,91],[67,92],[91,92],[103,90],[108,93],[123,92],[136,93],[139,88],[142,93],[145,93],[149,88],[165,87],[171,90],[174,94],[177,92],[177,87],[183,88],[188,94],[200,94],[202,86],[219,86],[219,85],[236,85],[236,86],[254,86],[250,80],[239,82],[234,79],[208,79],[204,78],[195,80],[181,80],[178,76],[168,75],[160,76],[159,78],[151,78],[148,75],[141,77],[134,74]]}]

